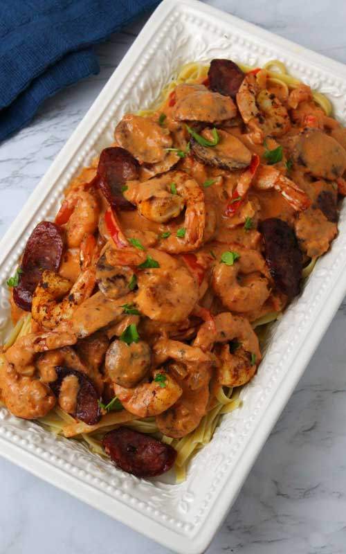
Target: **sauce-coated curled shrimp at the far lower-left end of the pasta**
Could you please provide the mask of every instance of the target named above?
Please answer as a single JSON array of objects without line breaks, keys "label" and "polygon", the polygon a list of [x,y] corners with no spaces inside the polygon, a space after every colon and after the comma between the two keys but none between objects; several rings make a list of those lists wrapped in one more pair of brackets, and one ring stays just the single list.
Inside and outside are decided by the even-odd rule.
[{"label": "sauce-coated curled shrimp at the far lower-left end of the pasta", "polygon": [[56,403],[47,384],[20,375],[8,361],[0,367],[0,397],[13,415],[28,420],[44,417]]}]

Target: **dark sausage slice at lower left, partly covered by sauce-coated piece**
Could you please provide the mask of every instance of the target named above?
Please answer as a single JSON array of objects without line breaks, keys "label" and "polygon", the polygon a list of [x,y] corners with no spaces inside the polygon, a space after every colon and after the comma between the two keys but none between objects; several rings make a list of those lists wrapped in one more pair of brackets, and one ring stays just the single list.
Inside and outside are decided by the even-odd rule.
[{"label": "dark sausage slice at lower left, partly covered by sauce-coated piece", "polygon": [[64,379],[69,379],[71,377],[78,379],[78,392],[75,399],[72,399],[72,401],[75,400],[75,402],[73,402],[75,404],[75,409],[71,415],[87,425],[95,425],[95,423],[100,421],[101,410],[98,404],[99,395],[89,377],[86,377],[86,375],[83,375],[80,371],[66,366],[55,366],[55,371],[57,373],[57,379],[49,383],[49,386],[57,398],[59,398],[60,393],[62,393]]}]

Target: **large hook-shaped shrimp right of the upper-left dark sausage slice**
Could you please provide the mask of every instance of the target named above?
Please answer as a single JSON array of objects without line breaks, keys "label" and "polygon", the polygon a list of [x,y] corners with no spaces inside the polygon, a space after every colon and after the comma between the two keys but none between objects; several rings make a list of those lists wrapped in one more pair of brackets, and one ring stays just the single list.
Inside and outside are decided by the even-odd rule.
[{"label": "large hook-shaped shrimp right of the upper-left dark sausage slice", "polygon": [[179,253],[199,247],[206,224],[206,206],[201,187],[190,175],[172,171],[143,183],[129,181],[127,186],[126,199],[136,204],[148,220],[166,223],[185,208],[185,220],[181,225],[185,234],[179,238],[171,233],[159,242],[160,249]]}]

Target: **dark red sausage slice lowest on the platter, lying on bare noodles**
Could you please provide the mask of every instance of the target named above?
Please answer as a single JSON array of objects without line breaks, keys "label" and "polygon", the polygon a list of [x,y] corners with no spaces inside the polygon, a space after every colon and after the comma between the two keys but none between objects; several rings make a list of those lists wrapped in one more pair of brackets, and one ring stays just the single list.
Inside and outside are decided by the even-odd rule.
[{"label": "dark red sausage slice lowest on the platter, lying on bare noodles", "polygon": [[107,433],[102,447],[120,470],[138,477],[154,477],[167,472],[177,454],[172,446],[127,427]]}]

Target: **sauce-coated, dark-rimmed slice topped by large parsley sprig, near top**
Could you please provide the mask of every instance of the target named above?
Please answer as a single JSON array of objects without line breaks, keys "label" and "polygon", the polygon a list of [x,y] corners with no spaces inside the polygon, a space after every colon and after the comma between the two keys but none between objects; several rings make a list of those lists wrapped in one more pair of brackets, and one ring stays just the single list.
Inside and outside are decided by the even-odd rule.
[{"label": "sauce-coated, dark-rimmed slice topped by large parsley sprig, near top", "polygon": [[[217,134],[219,143],[212,147],[202,146],[195,139],[191,139],[192,153],[197,159],[208,166],[230,171],[250,166],[251,152],[242,141],[221,129],[217,129]],[[213,139],[210,129],[204,129],[201,136],[210,141]]]}]

